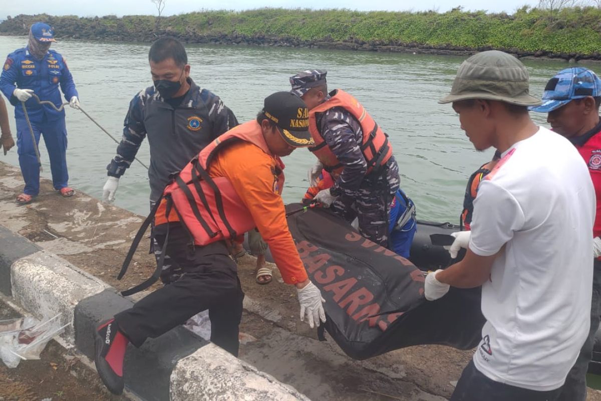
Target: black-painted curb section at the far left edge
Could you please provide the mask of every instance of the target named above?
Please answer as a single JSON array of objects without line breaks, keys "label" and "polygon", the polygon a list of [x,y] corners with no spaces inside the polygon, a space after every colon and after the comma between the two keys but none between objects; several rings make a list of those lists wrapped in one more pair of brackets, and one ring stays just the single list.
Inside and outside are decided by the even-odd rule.
[{"label": "black-painted curb section at the far left edge", "polygon": [[11,296],[10,266],[16,260],[40,251],[30,240],[0,225],[0,292]]}]

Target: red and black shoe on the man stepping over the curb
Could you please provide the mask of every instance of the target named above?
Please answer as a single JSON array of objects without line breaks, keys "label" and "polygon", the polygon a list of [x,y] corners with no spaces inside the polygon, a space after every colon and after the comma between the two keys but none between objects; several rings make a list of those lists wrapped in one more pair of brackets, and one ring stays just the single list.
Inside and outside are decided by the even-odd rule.
[{"label": "red and black shoe on the man stepping over the curb", "polygon": [[123,359],[129,340],[117,326],[115,319],[109,319],[96,329],[96,370],[106,388],[113,394],[123,393]]}]

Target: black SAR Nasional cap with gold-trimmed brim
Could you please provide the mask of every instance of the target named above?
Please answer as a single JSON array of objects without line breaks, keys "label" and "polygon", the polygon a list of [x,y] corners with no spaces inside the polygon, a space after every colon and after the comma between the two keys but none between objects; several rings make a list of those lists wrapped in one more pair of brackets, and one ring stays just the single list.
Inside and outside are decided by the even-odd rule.
[{"label": "black SAR Nasional cap with gold-trimmed brim", "polygon": [[282,138],[294,147],[315,144],[309,132],[309,110],[302,99],[290,92],[276,92],[265,98],[263,114],[279,127]]}]

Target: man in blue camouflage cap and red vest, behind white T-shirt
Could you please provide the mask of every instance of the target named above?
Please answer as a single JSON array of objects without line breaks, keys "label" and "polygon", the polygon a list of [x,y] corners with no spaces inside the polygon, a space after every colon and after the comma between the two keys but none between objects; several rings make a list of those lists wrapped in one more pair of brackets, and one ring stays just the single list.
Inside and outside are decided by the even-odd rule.
[{"label": "man in blue camouflage cap and red vest, behind white T-shirt", "polygon": [[561,401],[584,401],[587,398],[588,363],[601,313],[601,79],[583,67],[561,70],[547,83],[542,100],[543,104],[531,107],[531,111],[548,113],[547,121],[552,129],[575,145],[588,165],[597,197],[593,227],[591,327],[558,398]]}]

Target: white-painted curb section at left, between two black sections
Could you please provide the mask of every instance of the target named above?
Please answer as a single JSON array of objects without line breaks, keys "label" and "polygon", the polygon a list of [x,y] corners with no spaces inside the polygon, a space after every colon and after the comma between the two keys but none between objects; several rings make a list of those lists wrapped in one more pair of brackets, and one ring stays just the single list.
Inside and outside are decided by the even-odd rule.
[{"label": "white-painted curb section at left, between two black sections", "polygon": [[10,281],[14,301],[29,313],[40,318],[62,314],[61,324],[70,325],[61,337],[70,345],[75,344],[75,306],[108,288],[101,280],[45,251],[13,263]]}]

